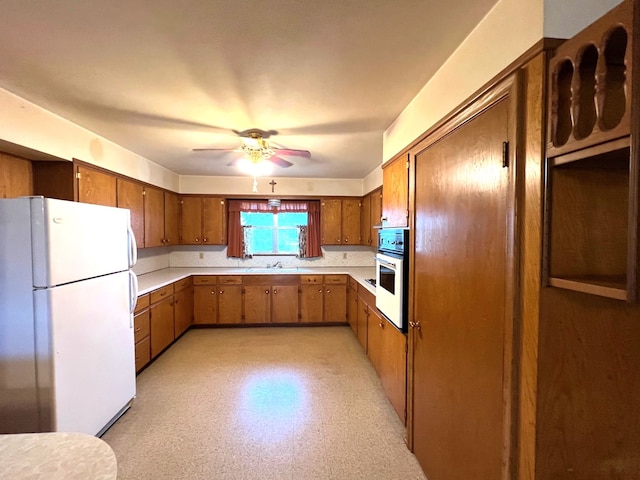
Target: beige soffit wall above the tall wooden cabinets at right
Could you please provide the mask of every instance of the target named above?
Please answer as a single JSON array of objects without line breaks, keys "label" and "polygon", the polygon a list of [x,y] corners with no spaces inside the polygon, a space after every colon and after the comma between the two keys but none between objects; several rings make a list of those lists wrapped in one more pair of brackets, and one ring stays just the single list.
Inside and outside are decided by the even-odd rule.
[{"label": "beige soffit wall above the tall wooden cabinets at right", "polygon": [[383,162],[543,37],[569,38],[620,0],[500,0],[384,133]]}]

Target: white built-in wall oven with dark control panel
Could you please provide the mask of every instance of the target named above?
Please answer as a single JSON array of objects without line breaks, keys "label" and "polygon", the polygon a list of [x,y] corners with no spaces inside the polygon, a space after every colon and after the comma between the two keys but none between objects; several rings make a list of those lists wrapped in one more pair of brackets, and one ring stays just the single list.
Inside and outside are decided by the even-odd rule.
[{"label": "white built-in wall oven with dark control panel", "polygon": [[407,331],[409,230],[378,230],[376,308],[401,332]]}]

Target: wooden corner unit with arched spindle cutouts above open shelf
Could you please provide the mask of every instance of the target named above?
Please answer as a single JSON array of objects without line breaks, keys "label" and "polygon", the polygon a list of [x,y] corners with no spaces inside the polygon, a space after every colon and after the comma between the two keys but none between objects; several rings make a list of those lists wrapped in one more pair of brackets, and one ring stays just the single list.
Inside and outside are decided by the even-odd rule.
[{"label": "wooden corner unit with arched spindle cutouts above open shelf", "polygon": [[547,285],[627,301],[638,300],[633,19],[625,1],[551,59],[545,185]]}]

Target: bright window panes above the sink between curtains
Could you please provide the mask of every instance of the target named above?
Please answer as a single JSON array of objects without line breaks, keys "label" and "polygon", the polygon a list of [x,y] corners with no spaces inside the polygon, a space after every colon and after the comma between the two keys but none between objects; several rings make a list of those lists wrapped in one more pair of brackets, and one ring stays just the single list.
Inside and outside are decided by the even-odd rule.
[{"label": "bright window panes above the sink between curtains", "polygon": [[241,212],[240,223],[250,227],[247,249],[252,255],[297,255],[298,226],[307,225],[307,212]]}]

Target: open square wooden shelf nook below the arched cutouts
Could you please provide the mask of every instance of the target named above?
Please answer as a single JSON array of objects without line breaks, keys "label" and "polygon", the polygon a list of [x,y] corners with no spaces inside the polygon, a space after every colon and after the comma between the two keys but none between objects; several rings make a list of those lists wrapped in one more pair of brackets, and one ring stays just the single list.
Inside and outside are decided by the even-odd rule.
[{"label": "open square wooden shelf nook below the arched cutouts", "polygon": [[546,264],[553,287],[630,300],[630,138],[547,162]]}]

